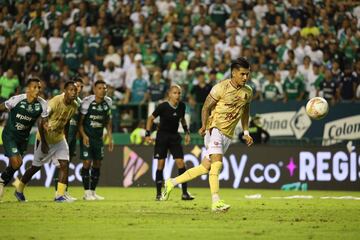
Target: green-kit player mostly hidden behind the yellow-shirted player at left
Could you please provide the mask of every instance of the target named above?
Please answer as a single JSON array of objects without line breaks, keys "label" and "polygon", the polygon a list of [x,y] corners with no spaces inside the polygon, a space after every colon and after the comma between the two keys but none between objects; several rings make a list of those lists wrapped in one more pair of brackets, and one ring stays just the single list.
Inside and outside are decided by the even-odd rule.
[{"label": "green-kit player mostly hidden behind the yellow-shirted player at left", "polygon": [[[79,130],[80,106],[81,106],[81,98],[79,96],[80,96],[81,91],[84,86],[84,83],[83,83],[81,77],[77,77],[74,81],[76,83],[76,89],[77,89],[77,97],[76,97],[75,101],[79,107],[78,107],[78,111],[76,111],[76,113],[71,118],[68,126],[65,128],[66,142],[68,143],[68,146],[69,146],[69,157],[70,157],[69,163],[73,160],[73,158],[76,157],[76,140],[77,140],[77,135],[78,135],[78,130]],[[60,170],[60,168],[57,167],[55,169],[55,173],[54,173],[55,191],[57,191],[58,182],[59,182],[59,170]],[[68,173],[69,173],[69,170],[68,170]],[[68,182],[66,184],[65,196],[67,198],[75,201],[75,200],[77,200],[77,198],[70,196],[70,194],[68,192],[68,188],[69,188]]]}]

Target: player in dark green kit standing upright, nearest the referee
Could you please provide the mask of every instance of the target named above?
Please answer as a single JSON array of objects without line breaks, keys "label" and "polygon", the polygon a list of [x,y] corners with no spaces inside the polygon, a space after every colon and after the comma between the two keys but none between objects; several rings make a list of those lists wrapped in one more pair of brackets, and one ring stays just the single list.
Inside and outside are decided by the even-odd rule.
[{"label": "player in dark green kit standing upright, nearest the referee", "polygon": [[[98,80],[94,84],[94,95],[83,99],[79,130],[80,155],[83,160],[81,176],[85,190],[84,200],[103,200],[95,193],[100,178],[101,161],[104,158],[104,128],[109,137],[109,151],[112,151],[111,98],[106,96],[106,83]],[[91,167],[91,170],[90,170]]]}]

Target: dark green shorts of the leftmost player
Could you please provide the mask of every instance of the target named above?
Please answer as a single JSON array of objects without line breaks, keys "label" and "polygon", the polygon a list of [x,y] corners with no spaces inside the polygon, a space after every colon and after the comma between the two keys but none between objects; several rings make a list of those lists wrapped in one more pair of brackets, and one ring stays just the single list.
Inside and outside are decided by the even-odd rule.
[{"label": "dark green shorts of the leftmost player", "polygon": [[5,150],[5,156],[13,157],[16,155],[22,156],[26,151],[28,140],[19,140],[13,137],[11,134],[7,134],[5,131],[2,133],[3,146]]}]

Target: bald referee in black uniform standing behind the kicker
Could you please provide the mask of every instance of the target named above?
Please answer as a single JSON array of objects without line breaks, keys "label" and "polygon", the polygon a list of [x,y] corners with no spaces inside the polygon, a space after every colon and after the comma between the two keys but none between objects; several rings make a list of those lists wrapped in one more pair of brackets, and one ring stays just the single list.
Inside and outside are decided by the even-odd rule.
[{"label": "bald referee in black uniform standing behind the kicker", "polygon": [[[180,101],[181,87],[172,85],[168,92],[168,101],[157,106],[152,115],[149,116],[146,123],[145,141],[151,142],[151,128],[154,119],[160,116],[160,124],[156,134],[154,158],[158,159],[158,166],[156,170],[156,200],[161,200],[161,188],[164,181],[163,170],[165,165],[165,158],[168,150],[175,159],[178,167],[179,175],[186,171],[184,164],[184,153],[181,146],[181,136],[178,133],[179,121],[185,131],[185,144],[190,143],[190,132],[185,121],[185,103]],[[182,200],[193,200],[187,192],[187,183],[182,184]]]}]

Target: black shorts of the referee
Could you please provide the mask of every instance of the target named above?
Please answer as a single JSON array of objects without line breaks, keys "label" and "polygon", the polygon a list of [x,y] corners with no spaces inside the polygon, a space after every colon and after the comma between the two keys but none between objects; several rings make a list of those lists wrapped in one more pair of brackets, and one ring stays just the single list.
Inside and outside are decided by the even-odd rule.
[{"label": "black shorts of the referee", "polygon": [[178,133],[157,132],[154,158],[165,159],[168,151],[170,151],[174,159],[184,158],[181,140],[181,136]]}]

